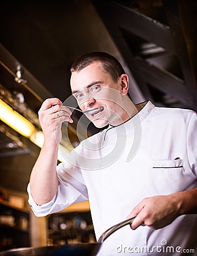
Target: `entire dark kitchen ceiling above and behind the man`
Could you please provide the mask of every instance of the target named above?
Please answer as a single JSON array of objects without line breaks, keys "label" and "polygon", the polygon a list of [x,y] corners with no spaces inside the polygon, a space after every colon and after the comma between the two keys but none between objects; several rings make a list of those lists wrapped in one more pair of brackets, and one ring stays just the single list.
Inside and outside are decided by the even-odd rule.
[{"label": "entire dark kitchen ceiling above and behind the man", "polygon": [[[0,98],[37,129],[41,102],[70,97],[70,66],[90,51],[118,57],[136,103],[197,109],[196,1],[3,1],[0,22]],[[26,82],[15,81],[19,67]],[[25,192],[40,149],[2,121],[0,139],[0,186]]]}]

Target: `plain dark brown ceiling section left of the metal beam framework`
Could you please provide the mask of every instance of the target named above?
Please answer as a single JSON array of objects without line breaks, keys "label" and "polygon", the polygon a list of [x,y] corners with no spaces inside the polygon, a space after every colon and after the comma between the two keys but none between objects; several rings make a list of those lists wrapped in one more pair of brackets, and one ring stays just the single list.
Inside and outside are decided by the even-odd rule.
[{"label": "plain dark brown ceiling section left of the metal beam framework", "polygon": [[[46,98],[65,101],[70,96],[69,70],[76,57],[89,51],[107,51],[121,58],[89,0],[3,1],[0,23],[1,98],[27,116],[27,108],[19,111],[17,97],[22,93],[23,105],[36,114],[35,118],[28,115],[31,121],[37,122],[37,112]],[[26,83],[15,81],[18,67]],[[74,119],[79,116],[75,113]],[[76,124],[69,127],[73,146],[77,143]],[[25,192],[40,149],[2,121],[0,125],[0,186]],[[97,131],[91,125],[90,130]]]}]

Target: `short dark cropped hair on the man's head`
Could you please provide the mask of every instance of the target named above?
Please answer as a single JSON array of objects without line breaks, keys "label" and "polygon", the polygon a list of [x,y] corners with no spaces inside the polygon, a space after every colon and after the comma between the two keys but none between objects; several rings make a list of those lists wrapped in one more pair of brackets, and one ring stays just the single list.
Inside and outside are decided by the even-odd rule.
[{"label": "short dark cropped hair on the man's head", "polygon": [[83,68],[97,61],[100,62],[104,71],[110,73],[114,81],[117,81],[119,77],[125,73],[119,61],[106,52],[90,52],[78,57],[78,59],[74,61],[70,71],[79,72]]}]

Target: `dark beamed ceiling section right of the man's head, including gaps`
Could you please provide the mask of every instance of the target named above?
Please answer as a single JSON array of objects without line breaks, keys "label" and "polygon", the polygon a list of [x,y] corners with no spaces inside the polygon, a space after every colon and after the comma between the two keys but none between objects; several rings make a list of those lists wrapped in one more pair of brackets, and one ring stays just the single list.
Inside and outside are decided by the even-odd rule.
[{"label": "dark beamed ceiling section right of the man's head, including gaps", "polygon": [[92,2],[145,98],[197,110],[197,2]]}]

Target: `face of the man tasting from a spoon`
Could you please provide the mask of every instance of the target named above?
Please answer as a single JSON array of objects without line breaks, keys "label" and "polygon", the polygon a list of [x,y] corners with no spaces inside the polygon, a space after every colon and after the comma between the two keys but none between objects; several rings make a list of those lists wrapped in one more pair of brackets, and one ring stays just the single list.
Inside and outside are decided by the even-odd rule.
[{"label": "face of the man tasting from a spoon", "polygon": [[99,62],[88,65],[80,72],[73,72],[70,84],[73,96],[83,111],[104,108],[102,112],[86,115],[96,127],[124,122],[121,79],[115,82]]}]

